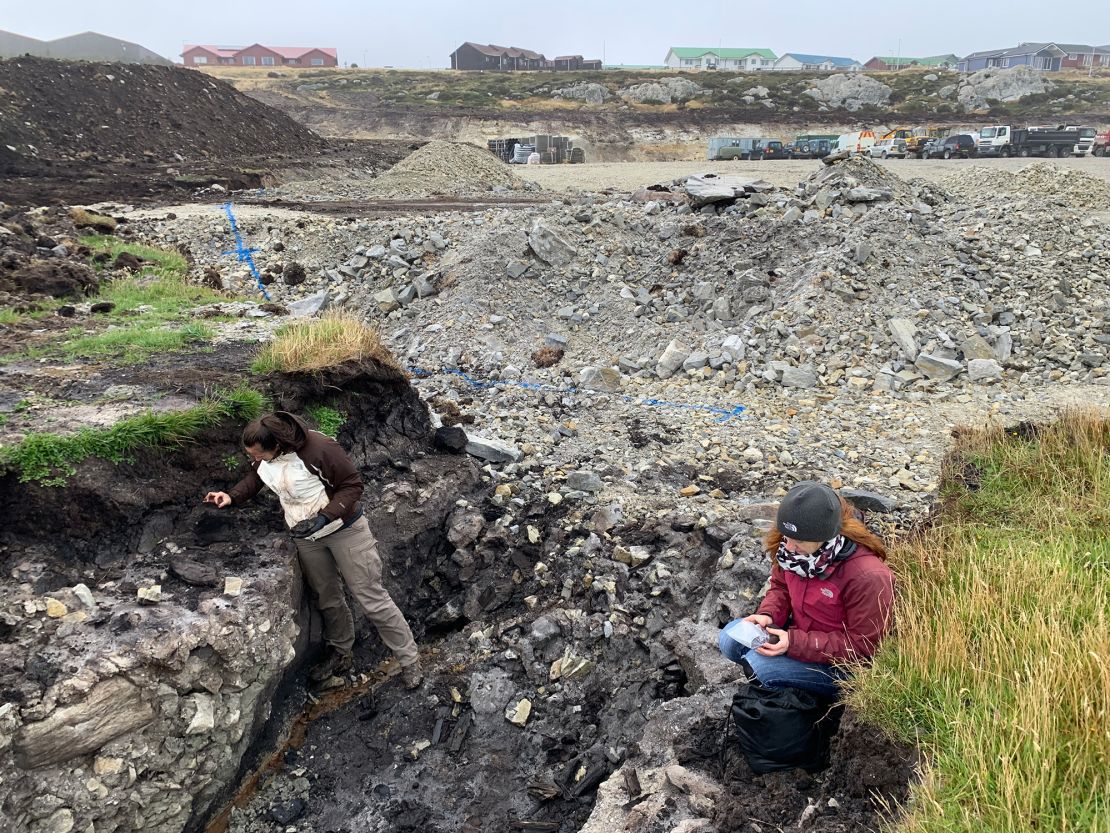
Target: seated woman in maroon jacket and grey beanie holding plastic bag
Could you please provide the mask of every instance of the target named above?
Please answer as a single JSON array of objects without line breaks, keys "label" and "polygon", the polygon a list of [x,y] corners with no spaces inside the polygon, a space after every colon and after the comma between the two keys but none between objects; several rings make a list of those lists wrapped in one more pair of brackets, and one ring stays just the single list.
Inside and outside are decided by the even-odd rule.
[{"label": "seated woman in maroon jacket and grey beanie holding plastic bag", "polygon": [[[849,673],[842,664],[870,659],[890,624],[886,548],[847,501],[814,482],[783,499],[764,546],[770,589],[756,613],[725,626],[720,651],[768,688],[835,697]],[[744,621],[777,640],[747,648],[737,639]]]}]

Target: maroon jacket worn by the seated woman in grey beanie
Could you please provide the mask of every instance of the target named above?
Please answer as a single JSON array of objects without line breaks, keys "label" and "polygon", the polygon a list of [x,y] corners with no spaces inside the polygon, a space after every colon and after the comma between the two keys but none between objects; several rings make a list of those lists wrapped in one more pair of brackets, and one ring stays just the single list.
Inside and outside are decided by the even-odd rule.
[{"label": "maroon jacket worn by the seated woman in grey beanie", "polygon": [[857,544],[824,579],[804,579],[776,562],[758,612],[789,633],[786,655],[799,662],[865,660],[890,625],[894,596],[890,568]]}]

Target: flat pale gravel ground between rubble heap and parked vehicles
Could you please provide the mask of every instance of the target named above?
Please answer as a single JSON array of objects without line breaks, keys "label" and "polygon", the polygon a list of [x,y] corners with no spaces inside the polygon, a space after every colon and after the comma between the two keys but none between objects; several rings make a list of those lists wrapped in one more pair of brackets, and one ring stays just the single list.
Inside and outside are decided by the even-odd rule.
[{"label": "flat pale gravel ground between rubble heap and parked vehicles", "polygon": [[[941,181],[953,171],[971,165],[1017,171],[1037,159],[889,159],[875,160],[902,179],[921,177]],[[1053,159],[1053,164],[1072,168],[1110,181],[1110,158]],[[669,182],[692,173],[730,173],[764,179],[771,184],[790,188],[819,168],[821,162],[811,159],[778,160],[770,162],[596,162],[586,164],[518,165],[522,178],[537,182],[549,191],[597,191],[614,188],[633,191],[656,182]]]}]

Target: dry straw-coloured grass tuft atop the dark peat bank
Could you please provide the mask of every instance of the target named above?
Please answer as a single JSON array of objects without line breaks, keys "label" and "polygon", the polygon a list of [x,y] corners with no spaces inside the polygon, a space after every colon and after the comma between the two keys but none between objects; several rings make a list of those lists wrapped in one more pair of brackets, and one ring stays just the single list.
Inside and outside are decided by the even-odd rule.
[{"label": "dry straw-coloured grass tuft atop the dark peat bank", "polygon": [[274,340],[259,351],[251,370],[293,373],[365,360],[400,370],[376,330],[353,315],[325,315],[278,330]]}]

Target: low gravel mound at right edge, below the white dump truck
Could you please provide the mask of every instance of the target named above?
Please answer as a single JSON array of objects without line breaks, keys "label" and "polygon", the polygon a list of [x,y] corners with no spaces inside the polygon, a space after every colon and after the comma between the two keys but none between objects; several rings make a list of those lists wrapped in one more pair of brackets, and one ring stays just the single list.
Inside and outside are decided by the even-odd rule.
[{"label": "low gravel mound at right edge, below the white dump truck", "polygon": [[1057,200],[1069,205],[1104,209],[1110,204],[1110,183],[1083,171],[1033,162],[1018,171],[998,168],[965,168],[944,181],[945,188],[966,200],[995,199],[999,192]]}]

